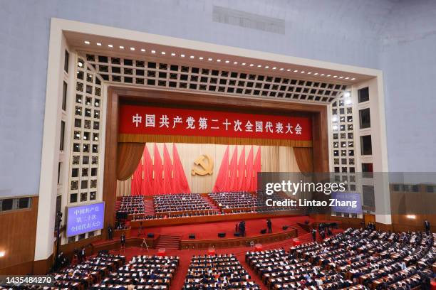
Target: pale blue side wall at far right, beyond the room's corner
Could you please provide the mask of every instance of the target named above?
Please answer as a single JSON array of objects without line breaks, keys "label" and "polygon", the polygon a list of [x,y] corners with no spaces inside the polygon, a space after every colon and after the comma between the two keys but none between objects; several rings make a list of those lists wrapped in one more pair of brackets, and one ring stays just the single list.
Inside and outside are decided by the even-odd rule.
[{"label": "pale blue side wall at far right, beyond the room's corner", "polygon": [[380,60],[389,171],[436,172],[436,1],[395,6]]}]

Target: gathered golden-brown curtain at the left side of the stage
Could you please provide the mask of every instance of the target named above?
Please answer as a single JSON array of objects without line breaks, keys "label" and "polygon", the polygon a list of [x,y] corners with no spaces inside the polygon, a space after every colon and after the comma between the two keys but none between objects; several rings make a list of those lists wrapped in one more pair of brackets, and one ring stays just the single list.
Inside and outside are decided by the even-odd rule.
[{"label": "gathered golden-brown curtain at the left side of the stage", "polygon": [[117,179],[119,181],[125,181],[135,172],[144,146],[144,143],[118,143]]}]

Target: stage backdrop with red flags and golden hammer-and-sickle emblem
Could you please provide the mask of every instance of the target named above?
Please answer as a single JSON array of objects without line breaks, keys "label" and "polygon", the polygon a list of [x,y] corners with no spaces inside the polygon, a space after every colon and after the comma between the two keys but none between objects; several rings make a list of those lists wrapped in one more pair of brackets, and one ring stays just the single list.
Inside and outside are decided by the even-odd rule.
[{"label": "stage backdrop with red flags and golden hammer-and-sickle emblem", "polygon": [[[167,152],[164,151],[164,145],[167,148]],[[177,149],[177,154],[173,152],[173,145]],[[294,148],[289,146],[251,146],[251,145],[220,145],[220,144],[170,144],[170,143],[147,143],[147,152],[150,154],[150,159],[147,161],[147,156],[142,156],[137,170],[133,173],[133,176],[128,178],[126,181],[118,181],[117,195],[150,195],[156,191],[156,188],[147,188],[151,183],[145,183],[143,186],[137,186],[137,183],[142,183],[142,180],[147,180],[150,178],[156,178],[153,173],[147,168],[150,168],[150,162],[153,165],[160,166],[160,163],[165,164],[165,159],[167,162],[171,159],[172,163],[172,173],[169,171],[165,172],[165,165],[162,165],[163,178],[161,183],[161,188],[157,189],[160,193],[165,193],[165,190],[171,188],[173,192],[182,192],[184,187],[183,181],[179,178],[174,178],[176,183],[168,183],[165,181],[166,176],[174,176],[175,166],[177,166],[177,160],[175,161],[175,156],[180,158],[180,164],[182,170],[185,173],[187,186],[191,193],[208,193],[217,189],[222,185],[222,183],[217,184],[217,177],[219,176],[220,168],[222,167],[223,158],[226,156],[228,158],[227,163],[229,166],[236,167],[237,175],[235,178],[229,176],[227,179],[227,184],[224,184],[224,189],[226,188],[255,188],[255,181],[249,181],[247,183],[247,174],[255,176],[255,173],[251,173],[249,168],[255,168],[256,166],[256,156],[260,154],[260,171],[264,172],[300,172],[299,166],[296,161],[296,156],[294,154]],[[155,150],[155,148],[157,150]],[[235,153],[236,149],[236,153]],[[252,152],[250,152],[252,149]],[[227,151],[228,150],[228,151]],[[260,151],[259,151],[260,150]],[[227,152],[226,152],[227,151]],[[258,153],[259,151],[259,153]],[[159,156],[155,156],[159,154]],[[228,154],[228,155],[227,155]],[[236,154],[236,155],[235,155]],[[242,158],[244,154],[244,158]],[[251,155],[251,156],[250,156]],[[234,159],[236,158],[236,159]],[[251,159],[252,158],[252,159]],[[202,162],[200,165],[196,165],[194,162]],[[210,162],[213,162],[212,174],[209,174],[207,170],[209,169]],[[233,161],[233,164],[232,164]],[[147,165],[147,163],[149,163]],[[156,163],[156,164],[155,164]],[[195,175],[192,175],[192,171],[195,171]],[[161,171],[161,172],[162,172]],[[225,170],[221,170],[225,172]],[[253,170],[254,171],[254,170]],[[228,171],[227,171],[228,172]],[[244,173],[242,173],[244,172]],[[204,174],[204,175],[201,175]],[[244,174],[245,181],[241,181],[239,174]],[[149,176],[147,178],[147,175]],[[225,176],[227,178],[227,176]],[[221,178],[222,179],[222,176]],[[244,182],[241,184],[240,182]],[[232,184],[229,184],[232,183]],[[186,192],[184,190],[183,192]]]}]

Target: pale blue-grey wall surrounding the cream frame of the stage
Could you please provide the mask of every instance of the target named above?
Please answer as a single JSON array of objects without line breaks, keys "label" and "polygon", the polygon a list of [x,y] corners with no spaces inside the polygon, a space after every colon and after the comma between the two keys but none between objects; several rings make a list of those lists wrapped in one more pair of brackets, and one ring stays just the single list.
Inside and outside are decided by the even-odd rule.
[{"label": "pale blue-grey wall surrounding the cream frame of the stage", "polygon": [[[409,7],[408,2],[426,3],[427,7]],[[285,33],[268,33],[214,22],[214,5],[285,19]],[[436,163],[429,162],[436,161],[435,150],[424,140],[430,134],[430,121],[435,118],[430,111],[434,106],[427,105],[427,102],[435,104],[430,90],[430,80],[435,79],[432,50],[436,46],[436,36],[431,34],[435,27],[435,6],[435,1],[420,0],[1,0],[0,197],[38,193],[51,17],[382,68],[387,84],[390,170],[402,170],[403,166],[411,170],[435,169]],[[416,15],[408,15],[408,9],[416,11]],[[393,11],[400,12],[400,16],[394,15]],[[403,22],[404,26],[398,26]],[[386,39],[386,36],[398,33],[415,36],[421,24],[425,24],[429,33],[427,38],[416,42],[410,39],[408,43]],[[401,63],[406,56],[407,64]],[[414,77],[422,66],[425,70],[421,77],[425,82],[421,77]],[[408,81],[398,73],[403,73],[405,68],[412,68],[407,73],[410,75]],[[415,100],[425,100],[425,104],[409,104],[411,96]],[[424,112],[415,114],[409,122],[403,118],[410,108],[418,107]],[[393,125],[396,122],[407,122],[405,126],[408,128],[415,127],[416,133],[410,131],[410,134],[417,134],[422,140],[418,144],[415,144],[417,138],[404,140],[402,128]],[[420,129],[424,122],[428,122],[428,127]],[[432,150],[432,159],[424,155],[428,150]],[[412,151],[422,153],[412,156]],[[422,168],[421,163],[433,164]]]}]

